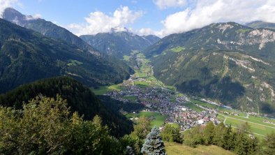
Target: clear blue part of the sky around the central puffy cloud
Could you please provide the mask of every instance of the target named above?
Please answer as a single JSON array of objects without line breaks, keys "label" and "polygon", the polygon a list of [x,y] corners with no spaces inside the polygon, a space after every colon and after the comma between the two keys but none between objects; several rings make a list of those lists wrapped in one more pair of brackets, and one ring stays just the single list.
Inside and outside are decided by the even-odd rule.
[{"label": "clear blue part of the sky around the central puffy cloud", "polygon": [[117,8],[128,6],[131,10],[142,10],[144,14],[129,26],[133,29],[150,27],[155,30],[162,28],[161,20],[167,15],[184,8],[181,6],[163,10],[151,0],[20,0],[19,2],[21,5],[15,5],[15,9],[24,15],[40,14],[44,19],[61,25],[83,23],[84,17],[91,12],[101,11],[110,15]]}]

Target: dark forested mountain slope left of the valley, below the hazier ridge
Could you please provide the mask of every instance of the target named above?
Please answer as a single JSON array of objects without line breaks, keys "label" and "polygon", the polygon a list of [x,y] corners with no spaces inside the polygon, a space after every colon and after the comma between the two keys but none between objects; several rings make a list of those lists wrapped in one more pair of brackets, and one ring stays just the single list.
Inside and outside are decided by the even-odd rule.
[{"label": "dark forested mountain slope left of the valley, below the hazier ridge", "polygon": [[122,82],[131,68],[0,19],[0,94],[45,77],[68,75],[98,87]]}]

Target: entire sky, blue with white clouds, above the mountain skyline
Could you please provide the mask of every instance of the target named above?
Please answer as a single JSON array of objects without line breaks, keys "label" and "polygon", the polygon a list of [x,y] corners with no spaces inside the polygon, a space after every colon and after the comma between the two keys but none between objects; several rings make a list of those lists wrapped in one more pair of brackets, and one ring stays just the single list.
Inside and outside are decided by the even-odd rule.
[{"label": "entire sky, blue with white clouds, above the mountain skyline", "polygon": [[124,27],[135,34],[166,36],[213,22],[275,22],[274,0],[0,0],[0,15],[6,7],[78,36]]}]

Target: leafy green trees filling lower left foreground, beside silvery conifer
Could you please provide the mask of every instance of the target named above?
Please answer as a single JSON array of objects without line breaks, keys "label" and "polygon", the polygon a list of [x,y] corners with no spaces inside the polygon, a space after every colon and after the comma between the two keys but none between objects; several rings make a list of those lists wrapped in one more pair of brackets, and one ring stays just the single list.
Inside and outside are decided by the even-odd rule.
[{"label": "leafy green trees filling lower left foreground, beside silvery conifer", "polygon": [[84,120],[70,112],[59,95],[37,96],[20,110],[1,106],[0,154],[142,154],[157,149],[165,154],[158,128],[151,130],[146,118],[137,121],[130,135],[117,139],[98,115]]}]

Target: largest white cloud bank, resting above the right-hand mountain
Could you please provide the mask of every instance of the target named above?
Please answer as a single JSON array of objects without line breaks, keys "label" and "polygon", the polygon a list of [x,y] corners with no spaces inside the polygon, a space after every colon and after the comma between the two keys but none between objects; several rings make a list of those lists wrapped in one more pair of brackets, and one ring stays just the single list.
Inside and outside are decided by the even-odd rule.
[{"label": "largest white cloud bank, resting above the right-hand mountain", "polygon": [[195,7],[168,15],[161,21],[163,29],[158,36],[204,27],[213,22],[275,22],[274,0],[198,0]]}]

